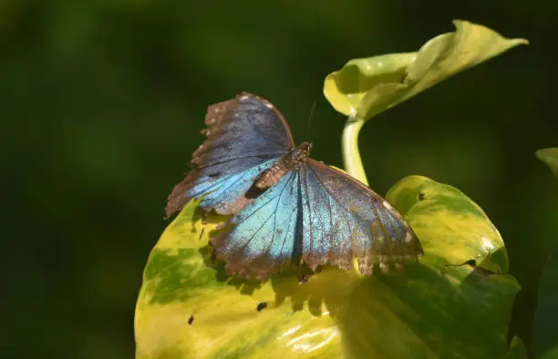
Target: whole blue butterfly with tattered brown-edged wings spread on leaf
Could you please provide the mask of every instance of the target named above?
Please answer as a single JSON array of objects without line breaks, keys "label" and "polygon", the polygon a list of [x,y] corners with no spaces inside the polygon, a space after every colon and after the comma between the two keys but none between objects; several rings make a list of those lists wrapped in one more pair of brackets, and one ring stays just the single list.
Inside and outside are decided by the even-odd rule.
[{"label": "whole blue butterfly with tattered brown-edged wings spread on leaf", "polygon": [[414,231],[386,200],[344,172],[308,158],[312,144],[295,147],[283,115],[249,93],[208,108],[207,137],[193,169],[174,187],[167,217],[193,198],[206,212],[233,215],[212,240],[226,271],[265,280],[289,262],[315,271],[349,269],[356,260],[370,274],[375,259],[416,259]]}]

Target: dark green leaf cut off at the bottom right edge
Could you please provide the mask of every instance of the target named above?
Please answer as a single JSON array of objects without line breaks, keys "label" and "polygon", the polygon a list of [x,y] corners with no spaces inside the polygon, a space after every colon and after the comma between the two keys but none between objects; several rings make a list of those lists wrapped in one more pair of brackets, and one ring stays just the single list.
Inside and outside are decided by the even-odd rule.
[{"label": "dark green leaf cut off at the bottom right edge", "polygon": [[558,248],[542,270],[532,348],[536,358],[558,358]]}]

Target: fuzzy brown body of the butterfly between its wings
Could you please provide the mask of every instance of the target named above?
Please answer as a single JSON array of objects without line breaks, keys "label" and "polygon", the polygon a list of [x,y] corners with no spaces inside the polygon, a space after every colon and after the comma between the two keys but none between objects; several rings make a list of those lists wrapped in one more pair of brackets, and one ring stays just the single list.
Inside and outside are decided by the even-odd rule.
[{"label": "fuzzy brown body of the butterfly between its wings", "polygon": [[272,167],[266,169],[255,181],[255,187],[259,190],[266,190],[281,180],[286,172],[304,163],[310,156],[312,143],[303,142],[298,147],[294,147],[285,153],[281,159],[274,163]]}]

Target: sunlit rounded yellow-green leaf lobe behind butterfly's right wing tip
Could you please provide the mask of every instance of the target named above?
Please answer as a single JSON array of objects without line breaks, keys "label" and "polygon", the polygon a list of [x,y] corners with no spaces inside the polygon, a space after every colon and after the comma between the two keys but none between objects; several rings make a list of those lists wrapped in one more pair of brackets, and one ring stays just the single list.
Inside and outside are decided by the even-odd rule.
[{"label": "sunlit rounded yellow-green leaf lobe behind butterfly's right wing tip", "polygon": [[440,264],[475,260],[491,272],[508,272],[508,254],[500,232],[460,190],[423,176],[408,176],[387,192],[387,199],[397,203],[424,251]]}]

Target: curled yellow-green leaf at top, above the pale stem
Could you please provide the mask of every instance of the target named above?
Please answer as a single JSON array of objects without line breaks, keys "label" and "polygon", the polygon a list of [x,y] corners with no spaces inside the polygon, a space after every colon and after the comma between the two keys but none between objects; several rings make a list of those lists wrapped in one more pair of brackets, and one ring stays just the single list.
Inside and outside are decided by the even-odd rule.
[{"label": "curled yellow-green leaf at top, above the pale stem", "polygon": [[528,43],[467,21],[453,24],[455,32],[432,38],[418,52],[348,61],[325,77],[325,97],[346,116],[368,119],[460,71]]}]

